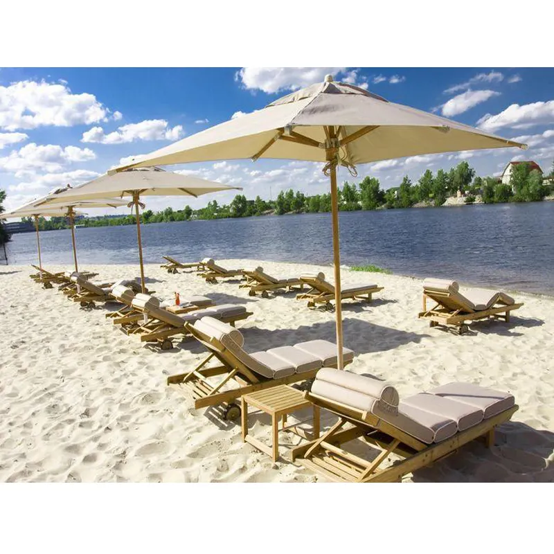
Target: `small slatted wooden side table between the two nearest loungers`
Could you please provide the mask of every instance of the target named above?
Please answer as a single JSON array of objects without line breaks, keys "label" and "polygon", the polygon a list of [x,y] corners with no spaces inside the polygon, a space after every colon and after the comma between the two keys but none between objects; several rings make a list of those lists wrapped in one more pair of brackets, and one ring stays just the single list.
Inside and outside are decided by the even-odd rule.
[{"label": "small slatted wooden side table between the two nearest loungers", "polygon": [[[296,410],[312,406],[314,409],[314,432],[312,438],[319,438],[319,406],[315,406],[309,400],[305,400],[301,391],[288,385],[274,386],[262,391],[256,391],[251,394],[245,394],[241,400],[242,404],[242,440],[253,447],[265,452],[268,456],[277,461],[279,457],[279,431],[293,430],[296,425],[285,427],[287,415]],[[271,427],[273,436],[273,445],[269,447],[257,438],[248,434],[248,406],[255,406],[265,413],[271,415]],[[279,429],[279,420],[283,420],[283,426]]]}]

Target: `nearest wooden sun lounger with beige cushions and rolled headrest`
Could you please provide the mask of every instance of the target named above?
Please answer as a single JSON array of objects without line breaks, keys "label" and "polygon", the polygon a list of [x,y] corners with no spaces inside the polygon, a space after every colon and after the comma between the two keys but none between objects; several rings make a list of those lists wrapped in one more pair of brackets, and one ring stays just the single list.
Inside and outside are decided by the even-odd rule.
[{"label": "nearest wooden sun lounger with beige cushions and rolled headrest", "polygon": [[[322,369],[305,397],[339,416],[316,440],[292,449],[292,461],[332,481],[395,482],[476,438],[494,444],[494,429],[517,411],[514,397],[475,384],[450,383],[399,400],[379,379]],[[353,427],[343,429],[346,423]],[[372,461],[341,445],[363,438],[377,447]],[[403,458],[383,467],[387,458]]]}]

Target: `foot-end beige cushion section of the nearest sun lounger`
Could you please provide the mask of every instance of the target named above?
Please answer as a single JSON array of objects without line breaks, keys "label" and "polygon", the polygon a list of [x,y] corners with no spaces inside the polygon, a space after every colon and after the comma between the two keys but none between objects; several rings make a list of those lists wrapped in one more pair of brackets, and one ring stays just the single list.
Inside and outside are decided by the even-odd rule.
[{"label": "foot-end beige cushion section of the nearest sun lounger", "polygon": [[483,410],[485,419],[491,418],[515,404],[515,398],[510,393],[495,391],[493,388],[485,388],[472,383],[449,383],[431,389],[429,394],[479,408]]}]

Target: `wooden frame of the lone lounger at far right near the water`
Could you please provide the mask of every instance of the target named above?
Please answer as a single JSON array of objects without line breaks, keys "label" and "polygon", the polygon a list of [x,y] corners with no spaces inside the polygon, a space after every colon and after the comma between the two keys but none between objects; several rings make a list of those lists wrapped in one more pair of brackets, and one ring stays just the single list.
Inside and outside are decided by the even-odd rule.
[{"label": "wooden frame of the lone lounger at far right near the water", "polygon": [[[430,310],[427,309],[427,299],[434,301],[435,305]],[[454,325],[460,328],[459,332],[465,331],[465,321],[477,321],[479,319],[503,319],[508,323],[510,321],[510,312],[517,310],[523,302],[517,304],[503,304],[497,302],[487,310],[472,310],[469,306],[456,301],[456,298],[447,292],[425,291],[422,298],[423,311],[419,312],[419,319],[429,320],[430,327],[436,325]]]}]

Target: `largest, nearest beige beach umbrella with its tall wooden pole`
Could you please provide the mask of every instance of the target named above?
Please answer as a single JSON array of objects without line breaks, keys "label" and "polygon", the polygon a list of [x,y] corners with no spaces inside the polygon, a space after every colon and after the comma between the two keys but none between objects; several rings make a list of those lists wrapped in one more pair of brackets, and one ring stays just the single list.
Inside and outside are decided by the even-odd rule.
[{"label": "largest, nearest beige beach umbrella with its tall wooden pole", "polygon": [[312,84],[264,109],[215,125],[113,171],[221,159],[321,161],[330,178],[339,368],[342,359],[337,166],[458,150],[524,145],[334,82]]}]

